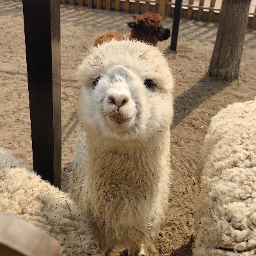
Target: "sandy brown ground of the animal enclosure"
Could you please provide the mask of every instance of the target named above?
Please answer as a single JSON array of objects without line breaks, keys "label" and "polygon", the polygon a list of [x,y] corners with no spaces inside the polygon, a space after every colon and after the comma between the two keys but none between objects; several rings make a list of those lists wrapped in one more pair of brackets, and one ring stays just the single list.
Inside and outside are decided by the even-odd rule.
[{"label": "sandy brown ground of the animal enclosure", "polygon": [[[88,54],[93,39],[104,31],[125,30],[132,14],[61,6],[61,108],[63,189],[74,156],[79,88],[74,73]],[[166,17],[164,26],[171,28]],[[158,44],[175,77],[175,116],[172,129],[173,180],[170,208],[161,230],[148,247],[148,255],[192,255],[196,166],[211,117],[233,102],[256,96],[256,30],[248,29],[239,79],[232,83],[207,77],[217,24],[182,19],[178,52],[168,50],[170,40]],[[22,4],[0,0],[0,146],[32,166],[28,84]],[[115,251],[112,255],[119,255]]]}]

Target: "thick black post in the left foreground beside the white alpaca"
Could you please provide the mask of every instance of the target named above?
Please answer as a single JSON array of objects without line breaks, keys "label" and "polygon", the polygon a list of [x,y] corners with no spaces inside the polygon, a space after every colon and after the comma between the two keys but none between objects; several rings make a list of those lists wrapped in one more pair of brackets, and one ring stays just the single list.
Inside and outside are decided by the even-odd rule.
[{"label": "thick black post in the left foreground beside the white alpaca", "polygon": [[60,0],[22,0],[34,170],[61,185]]}]

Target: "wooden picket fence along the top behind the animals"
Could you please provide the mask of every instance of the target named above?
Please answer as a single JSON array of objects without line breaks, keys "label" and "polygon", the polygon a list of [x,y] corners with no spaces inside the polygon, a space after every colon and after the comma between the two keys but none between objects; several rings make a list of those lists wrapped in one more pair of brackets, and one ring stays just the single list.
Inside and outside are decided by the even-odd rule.
[{"label": "wooden picket fence along the top behind the animals", "polygon": [[[115,10],[126,13],[157,12],[173,17],[175,0],[60,0],[61,4],[78,4],[88,8]],[[223,1],[223,0],[222,0]],[[218,21],[221,0],[184,0],[181,17],[195,20]],[[252,4],[248,13],[248,26],[256,27],[256,6]]]}]

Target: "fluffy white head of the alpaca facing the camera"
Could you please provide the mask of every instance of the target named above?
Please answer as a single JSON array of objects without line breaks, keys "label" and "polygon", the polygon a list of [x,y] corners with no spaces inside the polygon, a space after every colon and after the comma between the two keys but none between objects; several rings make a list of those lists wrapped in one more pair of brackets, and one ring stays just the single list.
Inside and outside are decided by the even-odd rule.
[{"label": "fluffy white head of the alpaca facing the camera", "polygon": [[145,141],[169,129],[173,78],[156,47],[131,40],[93,47],[77,77],[79,116],[95,140]]}]

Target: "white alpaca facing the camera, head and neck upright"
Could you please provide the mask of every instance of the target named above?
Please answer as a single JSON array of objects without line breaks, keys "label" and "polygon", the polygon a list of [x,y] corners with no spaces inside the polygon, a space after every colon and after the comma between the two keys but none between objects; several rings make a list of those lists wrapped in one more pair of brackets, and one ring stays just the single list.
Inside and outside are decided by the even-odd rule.
[{"label": "white alpaca facing the camera, head and neck upright", "polygon": [[102,251],[143,255],[168,202],[170,68],[156,47],[113,40],[93,47],[77,77],[83,131],[72,195]]}]

